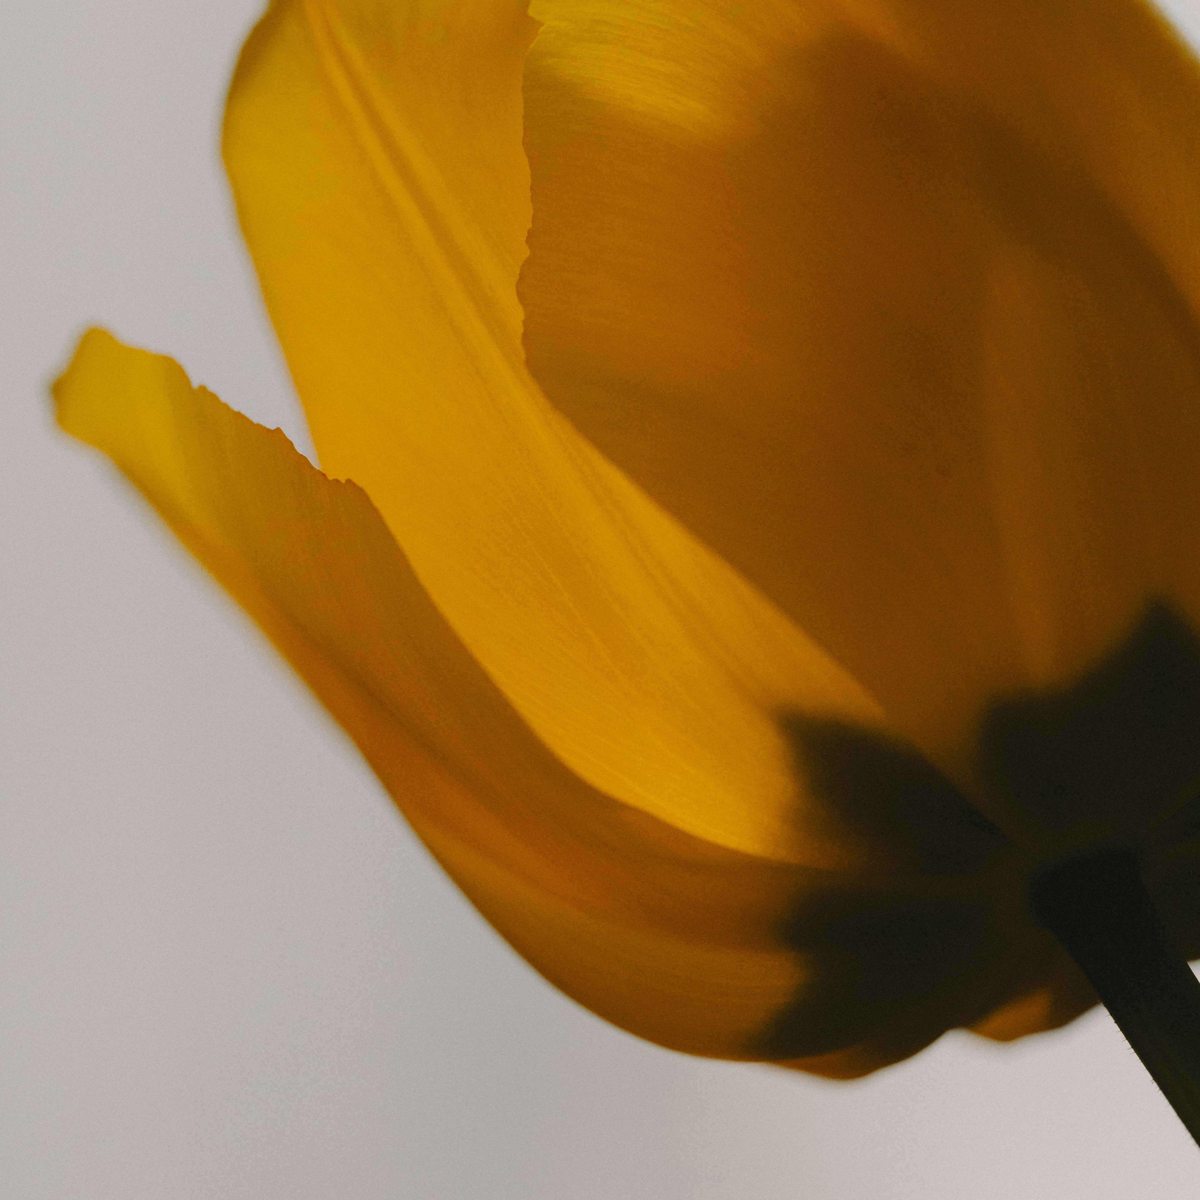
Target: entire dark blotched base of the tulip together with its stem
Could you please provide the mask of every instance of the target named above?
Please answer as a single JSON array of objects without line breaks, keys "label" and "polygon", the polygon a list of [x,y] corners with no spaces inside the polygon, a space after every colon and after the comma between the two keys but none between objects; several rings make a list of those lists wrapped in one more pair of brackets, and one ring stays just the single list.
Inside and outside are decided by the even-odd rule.
[{"label": "entire dark blotched base of the tulip together with its stem", "polygon": [[755,1054],[852,1078],[955,1025],[1007,1039],[1099,998],[1200,1141],[1200,638],[1184,617],[1153,600],[1069,684],[990,706],[979,773],[1007,835],[911,746],[780,724],[805,828],[876,872],[798,898],[780,936],[805,974]]}]

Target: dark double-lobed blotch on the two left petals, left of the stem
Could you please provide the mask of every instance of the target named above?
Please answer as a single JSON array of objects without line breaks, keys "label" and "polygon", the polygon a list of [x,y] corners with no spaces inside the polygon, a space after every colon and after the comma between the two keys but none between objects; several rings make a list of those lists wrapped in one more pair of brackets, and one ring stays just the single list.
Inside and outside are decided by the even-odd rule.
[{"label": "dark double-lobed blotch on the two left petals, left of the stem", "polygon": [[978,1020],[1010,947],[1004,886],[979,881],[1010,842],[912,746],[798,713],[781,725],[804,781],[798,820],[871,865],[796,900],[780,938],[804,977],[750,1049],[809,1058],[905,1030],[916,1050]]}]

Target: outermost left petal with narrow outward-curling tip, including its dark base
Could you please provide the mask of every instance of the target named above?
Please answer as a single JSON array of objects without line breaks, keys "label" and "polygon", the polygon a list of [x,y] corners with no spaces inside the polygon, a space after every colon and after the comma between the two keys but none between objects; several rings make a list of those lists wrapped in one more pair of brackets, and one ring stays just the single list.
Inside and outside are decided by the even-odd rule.
[{"label": "outermost left petal with narrow outward-curling tip, including its dark base", "polygon": [[64,428],[246,608],[484,916],[602,1016],[720,1057],[868,1038],[901,1057],[919,1045],[893,1026],[929,1042],[994,990],[1022,936],[1015,876],[812,870],[617,803],[532,736],[356,486],[107,334],[85,336],[55,396]]}]

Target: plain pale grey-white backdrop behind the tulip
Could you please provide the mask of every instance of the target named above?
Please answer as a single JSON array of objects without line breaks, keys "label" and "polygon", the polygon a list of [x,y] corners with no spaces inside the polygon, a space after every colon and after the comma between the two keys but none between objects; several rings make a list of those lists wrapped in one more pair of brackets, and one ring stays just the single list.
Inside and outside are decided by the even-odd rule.
[{"label": "plain pale grey-white backdrop behind the tulip", "polygon": [[[635,1042],[527,968],[46,385],[85,324],[307,449],[217,157],[257,0],[2,0],[0,1194],[1156,1200],[1108,1018],[852,1085]],[[1200,32],[1200,0],[1172,6]]]}]

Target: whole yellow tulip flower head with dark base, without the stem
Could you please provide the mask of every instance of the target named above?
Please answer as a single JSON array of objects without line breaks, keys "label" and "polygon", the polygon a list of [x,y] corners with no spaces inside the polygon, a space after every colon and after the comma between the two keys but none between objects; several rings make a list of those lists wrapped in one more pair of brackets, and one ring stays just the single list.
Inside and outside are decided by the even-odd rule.
[{"label": "whole yellow tulip flower head with dark base, without the stem", "polygon": [[532,18],[278,0],[242,53],[324,475],[96,331],[64,427],[642,1037],[1061,1025],[1030,881],[1110,846],[1200,953],[1196,64],[1136,0]]}]

